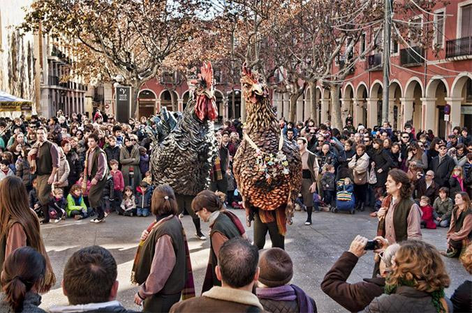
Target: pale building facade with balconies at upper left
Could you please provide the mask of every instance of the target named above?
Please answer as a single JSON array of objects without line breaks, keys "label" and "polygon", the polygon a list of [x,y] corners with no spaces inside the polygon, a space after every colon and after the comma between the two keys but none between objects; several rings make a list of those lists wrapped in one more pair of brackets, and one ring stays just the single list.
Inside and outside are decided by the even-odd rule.
[{"label": "pale building facade with balconies at upper left", "polygon": [[[24,21],[24,8],[33,0],[1,1],[0,6],[0,90],[34,102],[32,112],[45,117],[61,109],[65,114],[84,112],[87,86],[71,77],[73,55],[66,38],[53,39],[43,33],[17,30]],[[0,112],[4,116],[22,112]]]}]

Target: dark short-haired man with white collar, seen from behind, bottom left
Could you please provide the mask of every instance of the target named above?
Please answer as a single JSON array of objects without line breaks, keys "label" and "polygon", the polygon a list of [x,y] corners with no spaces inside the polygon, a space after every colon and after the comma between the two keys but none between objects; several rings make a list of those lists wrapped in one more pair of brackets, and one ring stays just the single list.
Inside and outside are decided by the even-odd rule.
[{"label": "dark short-haired man with white collar, seen from behind, bottom left", "polygon": [[132,313],[115,298],[118,293],[117,262],[103,247],[84,247],[72,254],[64,268],[62,291],[69,305],[54,306],[51,313]]}]

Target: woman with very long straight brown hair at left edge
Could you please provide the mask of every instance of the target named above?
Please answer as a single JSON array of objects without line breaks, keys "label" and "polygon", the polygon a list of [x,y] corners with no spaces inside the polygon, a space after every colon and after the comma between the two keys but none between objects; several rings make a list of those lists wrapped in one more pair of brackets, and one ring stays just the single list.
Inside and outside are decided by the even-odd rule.
[{"label": "woman with very long straight brown hair at left edge", "polygon": [[0,268],[15,249],[24,246],[34,248],[45,259],[46,272],[38,287],[38,292],[45,293],[56,283],[56,277],[41,238],[39,220],[29,208],[22,179],[10,176],[0,183]]}]

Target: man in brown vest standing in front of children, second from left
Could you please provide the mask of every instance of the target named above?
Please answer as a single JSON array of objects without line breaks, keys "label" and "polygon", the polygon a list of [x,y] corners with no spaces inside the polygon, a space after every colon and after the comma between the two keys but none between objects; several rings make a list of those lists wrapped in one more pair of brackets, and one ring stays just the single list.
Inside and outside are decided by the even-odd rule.
[{"label": "man in brown vest standing in front of children, second from left", "polygon": [[89,150],[87,151],[87,179],[90,181],[89,204],[94,208],[96,217],[90,222],[103,222],[105,211],[103,211],[102,194],[107,182],[108,166],[105,151],[98,146],[98,136],[90,134],[87,138]]}]

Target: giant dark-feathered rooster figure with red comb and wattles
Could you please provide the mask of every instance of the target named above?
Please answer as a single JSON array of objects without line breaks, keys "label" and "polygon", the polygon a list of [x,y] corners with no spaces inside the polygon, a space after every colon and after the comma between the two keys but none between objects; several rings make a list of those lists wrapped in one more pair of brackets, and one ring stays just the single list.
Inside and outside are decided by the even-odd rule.
[{"label": "giant dark-feathered rooster figure with red comb and wattles", "polygon": [[[216,157],[213,121],[218,116],[213,89],[213,68],[206,63],[200,68],[193,95],[180,119],[151,155],[154,185],[168,184],[174,189],[180,209],[186,209],[200,232],[200,220],[191,210],[191,200],[209,186],[209,173]],[[201,235],[201,236],[200,236]]]}]

